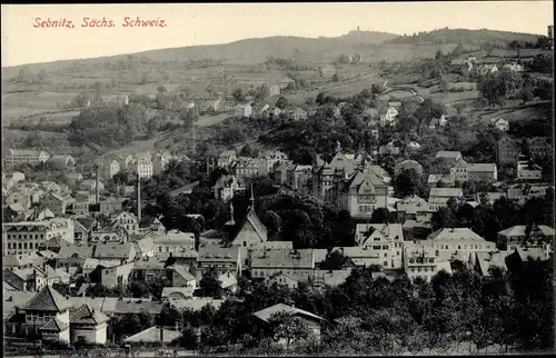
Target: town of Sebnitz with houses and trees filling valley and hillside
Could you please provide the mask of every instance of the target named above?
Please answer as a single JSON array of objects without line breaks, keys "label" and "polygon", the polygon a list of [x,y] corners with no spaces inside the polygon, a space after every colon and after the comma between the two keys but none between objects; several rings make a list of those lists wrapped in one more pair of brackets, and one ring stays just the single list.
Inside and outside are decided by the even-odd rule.
[{"label": "town of Sebnitz with houses and trees filling valley and hillside", "polygon": [[6,355],[553,350],[552,41],[2,120]]}]

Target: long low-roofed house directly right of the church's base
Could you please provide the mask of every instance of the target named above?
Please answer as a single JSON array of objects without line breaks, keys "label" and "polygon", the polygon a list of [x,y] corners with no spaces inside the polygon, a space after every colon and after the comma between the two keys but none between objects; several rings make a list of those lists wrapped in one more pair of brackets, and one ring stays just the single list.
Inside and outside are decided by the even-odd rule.
[{"label": "long low-roofed house directly right of the church's base", "polygon": [[254,279],[265,279],[276,272],[284,272],[299,281],[306,281],[315,270],[312,250],[256,250],[251,252]]}]

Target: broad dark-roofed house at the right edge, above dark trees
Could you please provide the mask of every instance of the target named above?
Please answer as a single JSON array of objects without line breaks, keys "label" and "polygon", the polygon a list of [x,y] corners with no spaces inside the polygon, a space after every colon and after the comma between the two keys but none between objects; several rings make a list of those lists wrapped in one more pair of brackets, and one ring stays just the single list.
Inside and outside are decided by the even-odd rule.
[{"label": "broad dark-roofed house at the right edge, above dark trees", "polygon": [[[498,231],[497,245],[503,251],[513,252],[518,247],[544,247],[554,242],[554,229],[546,225],[530,227],[516,225]],[[549,247],[547,248],[549,249]]]}]

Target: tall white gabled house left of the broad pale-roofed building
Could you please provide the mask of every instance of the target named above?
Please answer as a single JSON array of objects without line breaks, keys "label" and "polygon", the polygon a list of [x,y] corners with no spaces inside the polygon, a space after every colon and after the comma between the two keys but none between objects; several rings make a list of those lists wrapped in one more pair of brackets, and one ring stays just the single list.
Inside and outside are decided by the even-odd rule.
[{"label": "tall white gabled house left of the broad pale-roofed building", "polygon": [[370,255],[378,253],[381,259],[378,265],[387,269],[401,268],[404,232],[400,223],[359,223],[356,231],[358,246]]}]

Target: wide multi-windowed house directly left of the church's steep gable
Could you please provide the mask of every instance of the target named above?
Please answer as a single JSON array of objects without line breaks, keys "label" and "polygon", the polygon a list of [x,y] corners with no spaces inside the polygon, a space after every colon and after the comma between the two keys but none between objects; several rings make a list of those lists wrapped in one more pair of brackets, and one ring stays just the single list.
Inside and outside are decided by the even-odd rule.
[{"label": "wide multi-windowed house directly left of the church's steep gable", "polygon": [[210,268],[219,274],[230,271],[240,275],[246,259],[247,251],[240,247],[200,247],[196,278],[200,280],[202,272]]}]

